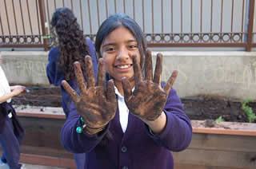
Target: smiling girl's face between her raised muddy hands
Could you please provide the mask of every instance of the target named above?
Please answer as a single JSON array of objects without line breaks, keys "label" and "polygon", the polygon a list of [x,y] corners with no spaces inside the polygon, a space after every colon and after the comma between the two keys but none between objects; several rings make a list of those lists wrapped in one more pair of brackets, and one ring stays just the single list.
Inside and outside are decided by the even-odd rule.
[{"label": "smiling girl's face between her raised muddy hands", "polygon": [[140,58],[138,43],[129,29],[119,27],[114,29],[102,42],[100,52],[106,72],[114,78],[115,83],[122,77],[134,80],[132,56]]}]

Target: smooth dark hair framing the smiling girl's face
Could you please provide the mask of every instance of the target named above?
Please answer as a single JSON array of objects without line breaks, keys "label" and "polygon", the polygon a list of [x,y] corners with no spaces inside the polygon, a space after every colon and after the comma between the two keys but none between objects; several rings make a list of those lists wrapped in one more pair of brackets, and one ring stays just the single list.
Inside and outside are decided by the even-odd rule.
[{"label": "smooth dark hair framing the smiling girl's face", "polygon": [[130,30],[130,33],[134,35],[138,43],[138,49],[141,55],[141,67],[143,69],[146,54],[146,39],[144,37],[144,33],[142,32],[141,27],[138,26],[138,23],[126,14],[114,14],[102,23],[96,35],[96,53],[98,54],[98,57],[102,57],[100,53],[102,42],[112,31],[114,31],[114,29],[118,29],[122,26]]}]

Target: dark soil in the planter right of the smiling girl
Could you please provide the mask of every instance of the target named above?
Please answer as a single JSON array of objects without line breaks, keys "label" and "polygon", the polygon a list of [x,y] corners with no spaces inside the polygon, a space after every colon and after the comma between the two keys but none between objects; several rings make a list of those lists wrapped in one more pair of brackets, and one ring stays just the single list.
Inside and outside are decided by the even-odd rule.
[{"label": "dark soil in the planter right of the smiling girl", "polygon": [[[184,104],[185,112],[190,120],[216,120],[222,116],[225,121],[249,122],[246,112],[242,110],[241,100],[197,96],[182,98],[182,104]],[[250,102],[248,105],[256,112],[256,102]]]}]

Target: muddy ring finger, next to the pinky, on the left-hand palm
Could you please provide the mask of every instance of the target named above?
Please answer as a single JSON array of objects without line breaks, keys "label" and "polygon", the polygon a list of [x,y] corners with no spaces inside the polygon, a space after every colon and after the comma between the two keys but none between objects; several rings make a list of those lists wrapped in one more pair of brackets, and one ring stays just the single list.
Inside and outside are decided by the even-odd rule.
[{"label": "muddy ring finger, next to the pinky, on the left-hand palm", "polygon": [[75,77],[77,77],[78,86],[81,94],[86,93],[86,82],[82,74],[81,65],[78,61],[74,62],[74,73],[75,73]]}]

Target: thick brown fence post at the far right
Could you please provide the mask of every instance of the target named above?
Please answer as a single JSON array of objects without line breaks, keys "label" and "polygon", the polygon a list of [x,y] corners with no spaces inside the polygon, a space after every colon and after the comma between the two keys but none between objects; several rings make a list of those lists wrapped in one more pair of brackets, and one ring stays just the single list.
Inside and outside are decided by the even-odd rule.
[{"label": "thick brown fence post at the far right", "polygon": [[248,52],[250,52],[252,48],[253,29],[254,29],[254,0],[250,0],[248,39],[247,39],[247,45],[246,45],[246,51]]}]

